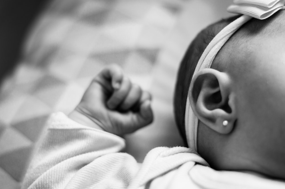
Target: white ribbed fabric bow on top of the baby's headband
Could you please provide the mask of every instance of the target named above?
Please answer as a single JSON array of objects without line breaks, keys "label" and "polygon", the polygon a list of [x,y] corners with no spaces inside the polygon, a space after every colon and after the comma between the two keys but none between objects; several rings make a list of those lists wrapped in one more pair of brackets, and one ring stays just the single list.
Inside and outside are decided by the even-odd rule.
[{"label": "white ribbed fabric bow on top of the baby's headband", "polygon": [[284,9],[285,0],[234,0],[233,2],[234,5],[228,7],[228,12],[263,20]]}]

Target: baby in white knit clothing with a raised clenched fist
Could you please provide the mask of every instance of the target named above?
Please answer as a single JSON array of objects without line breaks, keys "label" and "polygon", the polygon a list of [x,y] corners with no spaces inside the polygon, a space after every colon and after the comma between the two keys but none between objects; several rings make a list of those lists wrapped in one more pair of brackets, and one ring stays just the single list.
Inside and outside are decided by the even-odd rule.
[{"label": "baby in white knit clothing with a raised clenched fist", "polygon": [[153,114],[113,65],[68,116],[50,117],[23,188],[284,188],[284,16],[221,20],[191,43],[174,99],[190,148],[155,148],[142,164],[120,152]]}]

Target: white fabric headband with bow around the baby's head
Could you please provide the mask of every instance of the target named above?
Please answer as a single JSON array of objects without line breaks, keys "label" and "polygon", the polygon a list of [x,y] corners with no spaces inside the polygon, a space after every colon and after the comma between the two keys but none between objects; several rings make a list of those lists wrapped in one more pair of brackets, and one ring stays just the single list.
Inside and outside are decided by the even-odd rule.
[{"label": "white fabric headband with bow around the baby's head", "polygon": [[[199,70],[211,67],[219,50],[243,24],[251,20],[251,18],[263,20],[270,17],[278,10],[284,9],[284,3],[285,0],[234,0],[234,5],[228,7],[227,11],[243,15],[223,28],[213,38],[201,55],[192,78]],[[190,94],[191,89],[189,88],[185,109],[185,130],[189,148],[197,151],[198,118],[191,108]]]}]

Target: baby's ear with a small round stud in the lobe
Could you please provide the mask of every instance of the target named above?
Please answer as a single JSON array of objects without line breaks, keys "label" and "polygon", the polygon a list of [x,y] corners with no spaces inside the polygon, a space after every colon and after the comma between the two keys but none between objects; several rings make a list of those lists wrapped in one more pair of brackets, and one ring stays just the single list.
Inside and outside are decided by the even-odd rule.
[{"label": "baby's ear with a small round stud in the lobe", "polygon": [[196,73],[190,84],[191,108],[206,126],[220,134],[228,134],[237,119],[235,94],[225,72],[206,68]]}]

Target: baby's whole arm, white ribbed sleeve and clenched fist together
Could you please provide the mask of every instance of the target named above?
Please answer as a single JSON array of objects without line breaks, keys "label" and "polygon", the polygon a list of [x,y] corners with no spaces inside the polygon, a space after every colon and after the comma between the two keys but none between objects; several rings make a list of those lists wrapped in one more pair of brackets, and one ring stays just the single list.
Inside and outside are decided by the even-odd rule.
[{"label": "baby's whole arm, white ribbed sleeve and clenched fist together", "polygon": [[119,67],[108,67],[69,117],[51,116],[23,188],[126,188],[139,166],[131,155],[119,153],[125,142],[114,134],[152,121],[150,95]]}]

